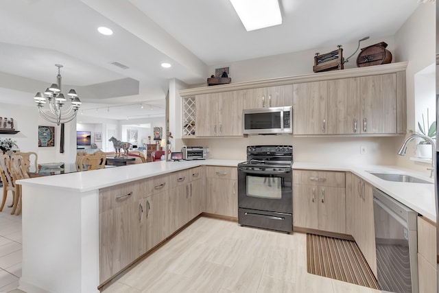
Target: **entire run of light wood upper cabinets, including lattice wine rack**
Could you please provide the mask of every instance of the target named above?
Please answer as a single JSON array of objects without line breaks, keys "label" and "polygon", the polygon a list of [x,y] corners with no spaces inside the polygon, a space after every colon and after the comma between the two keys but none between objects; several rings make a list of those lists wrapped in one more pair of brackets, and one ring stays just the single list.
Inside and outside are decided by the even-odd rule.
[{"label": "entire run of light wood upper cabinets, including lattice wine rack", "polygon": [[242,110],[293,106],[293,135],[405,134],[407,62],[180,91],[182,137],[242,135]]}]

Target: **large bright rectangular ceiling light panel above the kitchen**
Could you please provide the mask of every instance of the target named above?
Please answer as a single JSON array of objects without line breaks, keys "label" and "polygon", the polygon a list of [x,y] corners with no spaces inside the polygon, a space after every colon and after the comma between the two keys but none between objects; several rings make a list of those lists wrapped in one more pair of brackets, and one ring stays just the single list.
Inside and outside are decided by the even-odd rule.
[{"label": "large bright rectangular ceiling light panel above the kitchen", "polygon": [[247,32],[282,24],[278,0],[230,0]]}]

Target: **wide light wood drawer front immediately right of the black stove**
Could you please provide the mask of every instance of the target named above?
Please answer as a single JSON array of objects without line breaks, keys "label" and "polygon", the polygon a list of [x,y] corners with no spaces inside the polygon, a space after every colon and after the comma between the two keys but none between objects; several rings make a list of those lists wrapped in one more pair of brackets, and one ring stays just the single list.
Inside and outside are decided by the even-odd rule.
[{"label": "wide light wood drawer front immediately right of the black stove", "polygon": [[329,187],[346,187],[344,172],[293,170],[293,183]]}]

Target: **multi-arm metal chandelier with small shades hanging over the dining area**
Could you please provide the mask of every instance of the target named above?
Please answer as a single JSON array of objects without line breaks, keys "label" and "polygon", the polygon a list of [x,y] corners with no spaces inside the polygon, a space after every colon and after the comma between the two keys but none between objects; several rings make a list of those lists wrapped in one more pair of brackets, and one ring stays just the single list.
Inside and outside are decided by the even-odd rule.
[{"label": "multi-arm metal chandelier with small shades hanging over the dining area", "polygon": [[[67,101],[67,99],[61,93],[62,65],[56,64],[55,66],[58,67],[58,75],[56,76],[57,83],[52,84],[49,88],[47,88],[44,92],[44,95],[40,92],[36,93],[34,99],[36,106],[38,106],[40,116],[49,122],[60,125],[75,119],[76,115],[78,114],[78,109],[81,106],[81,101],[76,94],[76,91],[71,89],[69,93],[67,93],[67,95],[70,97],[70,106],[65,110],[63,109],[64,103]],[[45,104],[49,104],[50,111],[45,112],[43,110]]]}]

